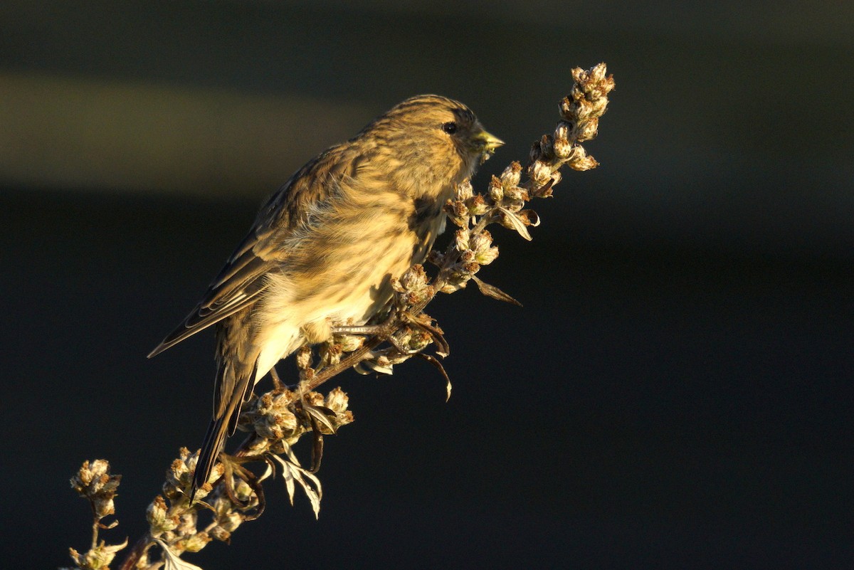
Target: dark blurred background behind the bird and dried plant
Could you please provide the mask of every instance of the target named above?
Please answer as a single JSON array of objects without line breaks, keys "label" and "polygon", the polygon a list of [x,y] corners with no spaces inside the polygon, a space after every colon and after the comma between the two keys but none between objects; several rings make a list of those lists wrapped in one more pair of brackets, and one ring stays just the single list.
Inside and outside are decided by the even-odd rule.
[{"label": "dark blurred background behind the bird and dried plant", "polygon": [[[454,383],[353,373],[319,521],[268,512],[211,568],[850,568],[854,9],[844,3],[6,2],[0,559],[67,565],[84,459],[120,542],[208,422],[213,342],[153,360],[278,183],[395,102],[553,129],[617,79],[602,166],[431,306]],[[280,367],[291,370],[290,364]],[[304,450],[303,450],[304,451]]]}]

